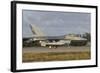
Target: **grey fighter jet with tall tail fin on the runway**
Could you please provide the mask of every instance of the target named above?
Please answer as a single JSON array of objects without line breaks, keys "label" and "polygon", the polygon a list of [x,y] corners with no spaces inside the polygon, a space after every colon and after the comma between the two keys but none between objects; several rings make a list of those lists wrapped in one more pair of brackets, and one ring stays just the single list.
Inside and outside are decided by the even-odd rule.
[{"label": "grey fighter jet with tall tail fin on the runway", "polygon": [[[42,30],[34,25],[29,25],[33,33],[33,37],[30,37],[29,41],[39,44],[40,46],[48,46],[49,48],[57,48],[58,46],[81,46],[86,45],[87,39],[73,36],[73,35],[61,35],[61,36],[47,36]],[[81,44],[80,44],[81,43]]]}]

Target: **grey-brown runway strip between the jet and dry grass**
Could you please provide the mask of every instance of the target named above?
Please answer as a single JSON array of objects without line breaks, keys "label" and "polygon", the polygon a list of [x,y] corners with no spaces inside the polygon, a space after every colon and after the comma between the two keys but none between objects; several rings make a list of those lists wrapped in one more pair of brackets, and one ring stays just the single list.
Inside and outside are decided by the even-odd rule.
[{"label": "grey-brown runway strip between the jet and dry grass", "polygon": [[46,52],[89,52],[90,46],[71,46],[71,47],[24,47],[22,49],[23,53],[46,53]]}]

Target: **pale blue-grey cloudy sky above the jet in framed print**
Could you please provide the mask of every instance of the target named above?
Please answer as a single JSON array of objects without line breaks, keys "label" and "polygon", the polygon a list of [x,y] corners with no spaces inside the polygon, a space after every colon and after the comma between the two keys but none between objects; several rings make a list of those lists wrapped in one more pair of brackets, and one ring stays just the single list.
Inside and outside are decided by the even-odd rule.
[{"label": "pale blue-grey cloudy sky above the jet in framed print", "polygon": [[47,36],[83,34],[90,32],[90,13],[60,11],[22,11],[22,36],[32,37],[30,24],[38,26]]}]

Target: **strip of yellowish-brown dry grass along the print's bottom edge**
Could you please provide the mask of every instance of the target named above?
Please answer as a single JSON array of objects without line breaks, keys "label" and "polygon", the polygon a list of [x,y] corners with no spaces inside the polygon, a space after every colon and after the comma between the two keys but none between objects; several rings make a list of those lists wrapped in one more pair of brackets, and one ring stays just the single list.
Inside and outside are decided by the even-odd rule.
[{"label": "strip of yellowish-brown dry grass along the print's bottom edge", "polygon": [[23,53],[23,62],[65,61],[90,59],[90,52]]}]

